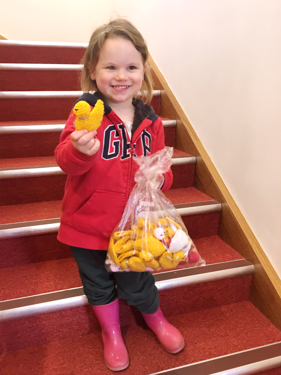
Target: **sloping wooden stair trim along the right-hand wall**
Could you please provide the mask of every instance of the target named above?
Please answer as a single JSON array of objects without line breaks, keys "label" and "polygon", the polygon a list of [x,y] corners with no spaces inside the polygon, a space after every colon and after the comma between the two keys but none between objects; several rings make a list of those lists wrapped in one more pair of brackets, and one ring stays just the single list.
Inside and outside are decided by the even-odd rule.
[{"label": "sloping wooden stair trim along the right-hand wall", "polygon": [[196,156],[194,187],[222,204],[218,235],[255,266],[250,301],[281,329],[281,279],[151,56],[149,64],[163,86],[160,115],[177,120],[175,147]]}]

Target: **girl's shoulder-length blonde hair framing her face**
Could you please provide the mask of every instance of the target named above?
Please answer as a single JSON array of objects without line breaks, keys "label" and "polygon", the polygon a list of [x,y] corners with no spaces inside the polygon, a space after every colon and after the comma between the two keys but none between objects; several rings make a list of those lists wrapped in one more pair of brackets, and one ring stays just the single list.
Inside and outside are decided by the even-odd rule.
[{"label": "girl's shoulder-length blonde hair framing her face", "polygon": [[[84,65],[81,73],[81,89],[83,92],[98,90],[96,81],[91,80],[91,72],[96,68],[99,60],[100,49],[109,37],[123,37],[130,40],[142,56],[143,65],[147,64],[148,48],[142,34],[130,22],[120,17],[102,25],[93,32],[89,45],[82,58],[81,64]],[[89,68],[90,66],[90,68]],[[153,96],[153,81],[150,73],[150,66],[146,66],[144,78],[142,81],[141,95],[145,98],[145,104],[150,103]],[[91,69],[91,71],[90,71]]]}]

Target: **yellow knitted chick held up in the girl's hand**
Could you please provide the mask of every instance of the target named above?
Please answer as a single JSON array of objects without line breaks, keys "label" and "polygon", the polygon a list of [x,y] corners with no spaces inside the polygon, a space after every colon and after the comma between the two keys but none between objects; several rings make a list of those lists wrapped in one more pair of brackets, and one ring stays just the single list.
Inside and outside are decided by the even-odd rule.
[{"label": "yellow knitted chick held up in the girl's hand", "polygon": [[75,120],[75,129],[87,129],[88,132],[97,130],[102,121],[103,112],[104,106],[100,99],[96,102],[93,110],[91,110],[90,105],[83,100],[76,103],[73,108],[73,114],[77,117]]}]

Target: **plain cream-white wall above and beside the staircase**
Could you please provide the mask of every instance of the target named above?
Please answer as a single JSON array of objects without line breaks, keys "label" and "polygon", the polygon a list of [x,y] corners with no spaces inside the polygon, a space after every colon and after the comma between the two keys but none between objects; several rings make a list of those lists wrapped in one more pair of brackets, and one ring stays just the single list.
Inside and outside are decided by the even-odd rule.
[{"label": "plain cream-white wall above and beside the staircase", "polygon": [[0,34],[87,42],[114,10],[142,32],[281,276],[281,1],[9,0]]}]

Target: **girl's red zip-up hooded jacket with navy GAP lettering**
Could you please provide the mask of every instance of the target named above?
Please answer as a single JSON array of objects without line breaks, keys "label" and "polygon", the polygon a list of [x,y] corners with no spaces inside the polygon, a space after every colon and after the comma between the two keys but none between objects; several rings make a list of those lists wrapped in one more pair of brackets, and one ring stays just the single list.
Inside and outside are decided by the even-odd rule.
[{"label": "girl's red zip-up hooded jacket with navy GAP lettering", "polygon": [[[87,101],[91,108],[99,92],[84,93],[78,101]],[[76,101],[76,103],[78,102]],[[70,134],[75,130],[72,111],[61,133],[55,157],[60,168],[68,174],[62,203],[58,240],[70,246],[107,250],[109,238],[120,221],[128,197],[135,185],[139,168],[132,156],[150,155],[164,148],[161,119],[150,105],[134,99],[135,116],[132,140],[122,120],[104,101],[105,114],[97,138],[100,148],[92,156],[73,147]],[[172,184],[172,171],[164,174],[162,191]]]}]

